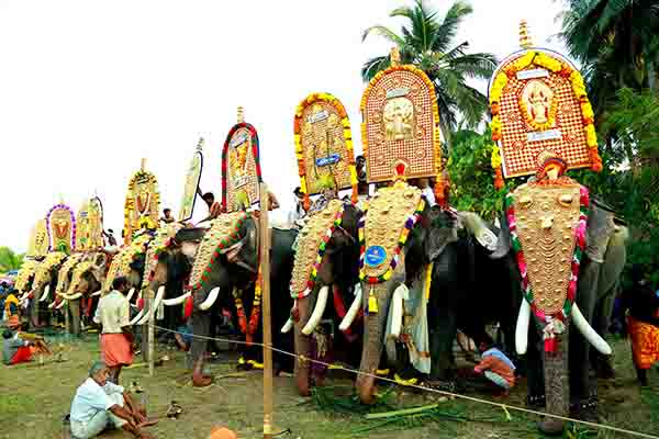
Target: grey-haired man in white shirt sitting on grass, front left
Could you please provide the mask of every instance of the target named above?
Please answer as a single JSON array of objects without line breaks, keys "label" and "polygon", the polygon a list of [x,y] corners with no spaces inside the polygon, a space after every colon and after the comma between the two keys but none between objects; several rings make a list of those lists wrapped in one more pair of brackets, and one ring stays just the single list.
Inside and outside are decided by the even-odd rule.
[{"label": "grey-haired man in white shirt sitting on grass, front left", "polygon": [[146,417],[121,385],[108,381],[108,367],[97,361],[89,378],[78,387],[71,403],[71,434],[76,439],[97,437],[108,428],[122,428],[141,439],[152,439],[144,427],[157,421]]}]

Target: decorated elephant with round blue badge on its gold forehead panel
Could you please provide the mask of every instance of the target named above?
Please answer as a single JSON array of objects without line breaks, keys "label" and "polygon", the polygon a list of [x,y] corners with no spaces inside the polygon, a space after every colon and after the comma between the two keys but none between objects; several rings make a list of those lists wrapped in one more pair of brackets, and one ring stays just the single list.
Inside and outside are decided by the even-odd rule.
[{"label": "decorated elephant with round blue badge on its gold forehead panel", "polygon": [[[494,249],[495,236],[476,215],[431,207],[424,200],[420,189],[398,181],[378,191],[361,221],[366,316],[357,390],[366,404],[373,402],[375,374],[384,347],[391,360],[399,350],[395,342],[402,341],[409,363],[427,375],[428,385],[442,385],[454,378],[458,326],[477,341],[491,342],[484,331],[487,313],[476,318],[469,303],[477,302],[470,295],[474,250]],[[459,238],[460,225],[471,238]],[[506,289],[511,283],[504,277],[491,284],[498,288],[494,284],[500,282]],[[399,368],[406,362],[395,359]]]}]

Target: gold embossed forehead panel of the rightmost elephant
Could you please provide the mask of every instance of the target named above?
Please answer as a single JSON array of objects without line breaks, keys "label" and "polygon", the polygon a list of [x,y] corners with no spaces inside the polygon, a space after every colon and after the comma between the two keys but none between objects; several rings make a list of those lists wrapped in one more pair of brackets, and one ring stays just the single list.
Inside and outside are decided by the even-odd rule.
[{"label": "gold embossed forehead panel of the rightmost elephant", "polygon": [[524,184],[514,192],[517,236],[537,307],[562,309],[572,273],[579,184]]}]

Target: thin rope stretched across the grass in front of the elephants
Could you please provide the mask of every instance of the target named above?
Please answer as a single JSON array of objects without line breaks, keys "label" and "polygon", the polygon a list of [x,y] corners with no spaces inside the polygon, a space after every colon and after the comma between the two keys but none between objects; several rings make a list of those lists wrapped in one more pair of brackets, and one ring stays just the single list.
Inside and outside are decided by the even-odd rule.
[{"label": "thin rope stretched across the grass in front of the elephants", "polygon": [[[188,336],[188,337],[191,336],[193,338],[199,338],[199,339],[204,339],[204,340],[223,341],[223,342],[236,344],[236,345],[244,345],[244,346],[258,346],[258,347],[261,347],[261,348],[265,348],[265,349],[270,349],[272,352],[282,353],[282,354],[286,354],[286,356],[289,356],[289,357],[293,357],[295,359],[300,359],[302,361],[309,361],[309,362],[312,362],[312,363],[321,364],[321,365],[324,365],[326,368],[331,368],[332,370],[343,370],[345,372],[353,373],[353,374],[356,374],[356,375],[365,375],[365,376],[369,376],[369,378],[375,378],[376,380],[389,382],[391,384],[402,385],[402,384],[398,383],[395,380],[392,380],[392,379],[389,379],[389,378],[378,376],[376,374],[372,374],[372,373],[369,373],[369,372],[358,371],[358,370],[355,370],[355,369],[351,369],[351,368],[347,368],[345,365],[330,364],[330,363],[326,363],[324,361],[314,360],[314,359],[311,359],[311,358],[306,358],[304,356],[299,356],[297,353],[288,352],[286,350],[278,349],[278,348],[275,348],[272,346],[266,346],[264,344],[256,342],[256,341],[253,341],[252,344],[247,344],[246,341],[242,341],[242,340],[232,340],[232,339],[227,339],[227,338],[198,336],[198,335],[194,335],[194,334],[186,334],[186,333],[181,333],[181,331],[178,331],[178,330],[165,328],[165,327],[161,327],[161,326],[158,326],[158,325],[154,325],[154,328],[160,329],[160,330],[164,330],[164,331],[167,331],[167,333],[185,335],[185,336]],[[579,425],[582,425],[582,426],[587,426],[587,427],[591,427],[591,428],[596,428],[596,429],[600,429],[600,430],[607,430],[607,431],[613,431],[613,432],[625,434],[625,435],[634,436],[634,437],[637,437],[637,438],[659,439],[659,436],[648,435],[648,434],[644,434],[644,432],[639,432],[639,431],[627,430],[625,428],[612,427],[612,426],[608,426],[606,424],[597,424],[597,423],[590,423],[588,420],[573,419],[573,418],[570,418],[570,417],[560,416],[560,415],[554,415],[554,414],[545,413],[545,412],[538,412],[538,410],[534,410],[534,409],[530,409],[530,408],[517,407],[517,406],[514,406],[514,405],[509,405],[509,404],[503,404],[503,403],[495,403],[493,401],[482,399],[482,398],[478,398],[478,397],[473,397],[473,396],[461,395],[459,393],[453,393],[453,392],[448,392],[448,391],[442,391],[442,390],[438,390],[438,389],[425,387],[423,385],[409,384],[409,385],[404,385],[404,386],[405,387],[410,387],[410,389],[416,389],[416,390],[424,391],[424,392],[436,393],[436,394],[439,394],[439,395],[443,395],[443,396],[450,396],[450,397],[454,397],[454,398],[465,399],[465,401],[469,401],[469,402],[472,402],[472,403],[484,404],[484,405],[498,407],[498,408],[501,408],[504,412],[504,414],[506,415],[506,418],[509,418],[509,419],[510,419],[510,413],[509,413],[509,410],[514,410],[514,412],[520,412],[520,413],[535,415],[535,416],[545,416],[545,417],[549,417],[549,418],[562,420],[562,421],[566,421],[566,423],[579,424]]]}]

